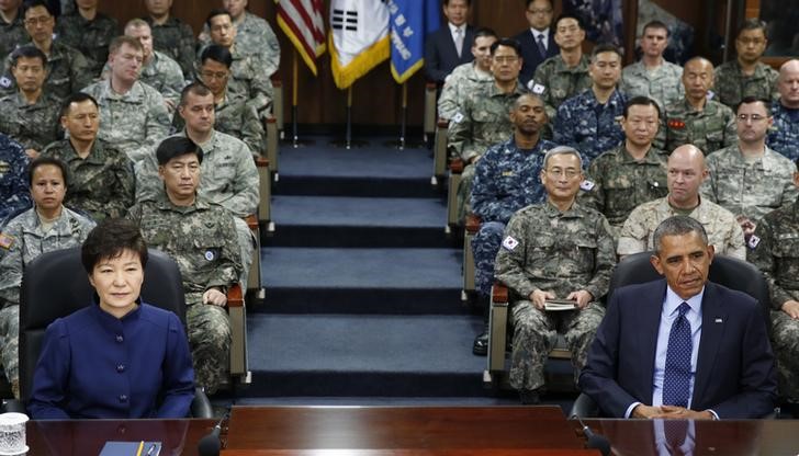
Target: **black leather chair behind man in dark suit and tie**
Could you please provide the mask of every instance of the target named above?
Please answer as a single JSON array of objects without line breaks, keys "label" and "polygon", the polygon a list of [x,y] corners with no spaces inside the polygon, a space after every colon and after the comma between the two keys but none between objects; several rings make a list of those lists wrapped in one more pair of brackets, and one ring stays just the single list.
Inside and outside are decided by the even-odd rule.
[{"label": "black leather chair behind man in dark suit and tie", "polygon": [[[610,278],[608,296],[612,295],[616,288],[656,281],[662,276],[655,271],[650,262],[652,252],[641,252],[626,256],[614,270]],[[769,317],[768,284],[761,270],[753,264],[732,256],[716,255],[710,264],[708,274],[710,282],[723,285],[728,288],[743,292],[757,299],[763,309],[763,319],[770,333],[772,320]],[[586,395],[581,394],[574,401],[570,417],[598,417],[599,408]]]}]

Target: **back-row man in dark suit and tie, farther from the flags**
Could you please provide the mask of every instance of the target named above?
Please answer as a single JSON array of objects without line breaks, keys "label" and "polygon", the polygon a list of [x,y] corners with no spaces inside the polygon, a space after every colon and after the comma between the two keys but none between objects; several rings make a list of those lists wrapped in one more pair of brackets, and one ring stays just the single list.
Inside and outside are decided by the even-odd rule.
[{"label": "back-row man in dark suit and tie, farther from the flags", "polygon": [[527,0],[525,16],[530,23],[530,29],[516,35],[516,39],[521,44],[521,58],[525,59],[519,80],[527,84],[532,79],[538,65],[556,56],[561,49],[555,43],[554,32],[550,30],[550,24],[552,24],[551,0]]}]

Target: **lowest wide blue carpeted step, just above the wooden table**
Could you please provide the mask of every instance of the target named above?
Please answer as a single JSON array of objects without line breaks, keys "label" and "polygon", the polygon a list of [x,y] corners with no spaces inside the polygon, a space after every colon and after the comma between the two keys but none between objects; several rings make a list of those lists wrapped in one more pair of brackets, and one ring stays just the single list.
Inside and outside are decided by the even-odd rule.
[{"label": "lowest wide blue carpeted step, just above the wooden table", "polygon": [[471,316],[250,315],[248,396],[485,396]]}]

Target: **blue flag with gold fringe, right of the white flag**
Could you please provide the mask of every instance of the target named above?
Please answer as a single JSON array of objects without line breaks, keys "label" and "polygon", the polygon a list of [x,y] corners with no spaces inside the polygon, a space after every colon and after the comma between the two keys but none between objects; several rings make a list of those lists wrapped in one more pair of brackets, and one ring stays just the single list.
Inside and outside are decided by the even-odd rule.
[{"label": "blue flag with gold fringe, right of the white flag", "polygon": [[[398,83],[425,64],[425,37],[441,24],[440,0],[385,0],[391,13],[391,73]],[[421,4],[420,4],[421,3]]]}]

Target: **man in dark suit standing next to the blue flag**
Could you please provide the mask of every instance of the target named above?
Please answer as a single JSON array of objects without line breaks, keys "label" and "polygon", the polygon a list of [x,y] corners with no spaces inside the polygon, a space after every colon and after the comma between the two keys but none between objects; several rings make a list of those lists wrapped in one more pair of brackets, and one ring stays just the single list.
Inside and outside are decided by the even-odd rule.
[{"label": "man in dark suit standing next to the blue flag", "polygon": [[471,5],[471,0],[443,0],[447,26],[432,32],[425,42],[425,75],[439,86],[457,66],[474,59],[470,50],[474,29],[466,24]]}]

